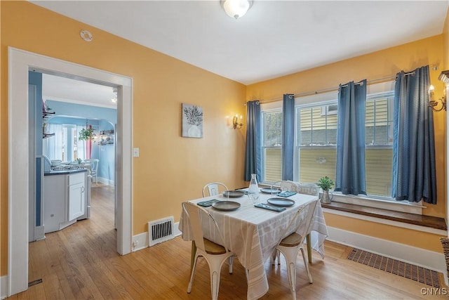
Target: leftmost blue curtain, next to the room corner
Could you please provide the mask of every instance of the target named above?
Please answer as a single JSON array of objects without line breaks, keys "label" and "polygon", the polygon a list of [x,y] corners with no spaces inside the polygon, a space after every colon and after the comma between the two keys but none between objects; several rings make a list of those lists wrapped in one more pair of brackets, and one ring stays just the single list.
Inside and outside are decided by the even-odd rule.
[{"label": "leftmost blue curtain, next to the room corner", "polygon": [[251,174],[256,174],[260,182],[262,174],[262,126],[259,101],[246,103],[246,152],[244,180],[250,181]]}]

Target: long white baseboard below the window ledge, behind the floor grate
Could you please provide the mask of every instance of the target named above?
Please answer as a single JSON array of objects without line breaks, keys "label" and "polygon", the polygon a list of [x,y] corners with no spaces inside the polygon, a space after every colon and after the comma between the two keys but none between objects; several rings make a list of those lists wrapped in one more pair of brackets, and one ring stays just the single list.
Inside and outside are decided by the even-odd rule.
[{"label": "long white baseboard below the window ledge, behind the floor grate", "polygon": [[[421,249],[407,244],[382,240],[369,235],[361,235],[351,231],[328,226],[328,240],[356,247],[382,256],[391,257],[398,261],[412,263],[416,266],[435,270],[445,274],[445,259],[443,253]],[[447,276],[445,274],[445,276]]]}]

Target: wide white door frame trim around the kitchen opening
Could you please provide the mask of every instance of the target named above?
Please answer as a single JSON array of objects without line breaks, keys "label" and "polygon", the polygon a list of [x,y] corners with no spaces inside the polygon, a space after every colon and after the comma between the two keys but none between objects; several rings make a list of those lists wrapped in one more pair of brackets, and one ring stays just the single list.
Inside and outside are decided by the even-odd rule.
[{"label": "wide white door frame trim around the kitchen opening", "polygon": [[117,252],[124,255],[132,249],[133,79],[8,47],[8,296],[28,288],[28,71],[33,69],[118,88]]}]

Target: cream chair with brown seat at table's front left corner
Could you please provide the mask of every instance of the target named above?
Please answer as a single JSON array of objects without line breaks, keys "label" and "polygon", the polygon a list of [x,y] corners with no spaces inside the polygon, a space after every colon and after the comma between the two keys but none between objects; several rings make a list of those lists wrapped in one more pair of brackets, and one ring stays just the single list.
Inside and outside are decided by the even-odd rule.
[{"label": "cream chair with brown seat at table's front left corner", "polygon": [[[203,256],[209,266],[210,272],[210,291],[212,293],[212,299],[218,299],[218,289],[220,287],[220,273],[223,263],[231,258],[234,252],[229,251],[224,244],[222,233],[218,228],[217,222],[208,213],[206,209],[199,207],[191,202],[182,202],[182,208],[185,209],[189,223],[192,228],[192,234],[194,235],[194,242],[196,245],[194,265],[192,267],[192,274],[190,275],[189,286],[187,287],[187,293],[192,291],[192,285],[194,282],[196,261],[199,256]],[[220,244],[212,242],[203,235],[203,229],[201,227],[201,220],[207,220],[213,222],[217,237],[220,239]]]}]

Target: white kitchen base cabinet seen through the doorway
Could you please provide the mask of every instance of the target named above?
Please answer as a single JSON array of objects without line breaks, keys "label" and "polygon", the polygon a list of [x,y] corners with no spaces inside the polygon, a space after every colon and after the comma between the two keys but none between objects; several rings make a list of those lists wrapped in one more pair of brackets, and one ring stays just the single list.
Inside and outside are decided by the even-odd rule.
[{"label": "white kitchen base cabinet seen through the doorway", "polygon": [[44,230],[61,230],[84,214],[87,172],[62,172],[44,176]]}]

